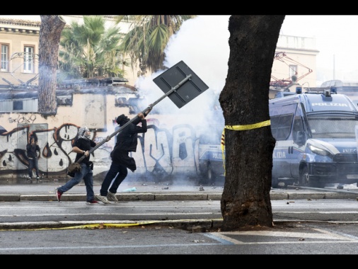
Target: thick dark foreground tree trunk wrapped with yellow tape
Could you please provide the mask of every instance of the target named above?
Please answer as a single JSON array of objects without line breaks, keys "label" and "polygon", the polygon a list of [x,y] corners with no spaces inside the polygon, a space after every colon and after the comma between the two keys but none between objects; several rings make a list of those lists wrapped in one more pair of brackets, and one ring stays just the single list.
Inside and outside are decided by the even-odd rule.
[{"label": "thick dark foreground tree trunk wrapped with yellow tape", "polygon": [[[270,189],[275,139],[270,125],[270,76],[284,16],[231,16],[229,70],[219,101],[225,125],[226,178],[222,231],[272,227]],[[251,125],[251,126],[250,126]]]}]

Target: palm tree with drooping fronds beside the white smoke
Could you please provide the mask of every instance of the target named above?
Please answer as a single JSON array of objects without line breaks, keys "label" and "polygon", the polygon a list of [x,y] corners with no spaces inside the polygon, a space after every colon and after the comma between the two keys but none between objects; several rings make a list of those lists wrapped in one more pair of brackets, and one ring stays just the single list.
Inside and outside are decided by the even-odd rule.
[{"label": "palm tree with drooping fronds beside the white smoke", "polygon": [[138,76],[146,71],[158,71],[163,66],[164,49],[171,35],[175,34],[182,23],[194,15],[131,15],[117,16],[116,22],[127,21],[130,30],[122,40],[120,49],[131,58],[132,69],[139,64]]}]

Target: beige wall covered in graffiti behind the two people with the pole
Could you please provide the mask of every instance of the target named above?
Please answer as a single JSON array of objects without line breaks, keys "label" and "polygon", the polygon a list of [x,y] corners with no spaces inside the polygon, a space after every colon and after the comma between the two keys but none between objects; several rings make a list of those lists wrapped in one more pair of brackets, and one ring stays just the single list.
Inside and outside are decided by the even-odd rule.
[{"label": "beige wall covered in graffiti behind the two people with the pole", "polygon": [[[28,176],[25,145],[30,136],[36,137],[41,149],[40,173],[45,178],[63,178],[67,177],[67,167],[76,156],[71,149],[79,127],[87,126],[91,130],[91,139],[100,142],[115,132],[118,115],[123,113],[133,118],[145,108],[143,105],[141,108],[134,93],[83,90],[66,96],[71,96],[71,100],[67,105],[58,105],[55,116],[0,113],[0,181]],[[12,100],[16,100],[16,96]],[[154,181],[168,177],[175,181],[197,177],[200,174],[199,129],[190,122],[183,123],[187,121],[178,115],[161,115],[155,108],[146,118],[148,131],[139,134],[137,151],[132,153],[137,171],[129,171],[128,177]],[[91,161],[95,164],[95,178],[103,178],[108,171],[114,145],[115,137],[112,137],[93,151]]]}]

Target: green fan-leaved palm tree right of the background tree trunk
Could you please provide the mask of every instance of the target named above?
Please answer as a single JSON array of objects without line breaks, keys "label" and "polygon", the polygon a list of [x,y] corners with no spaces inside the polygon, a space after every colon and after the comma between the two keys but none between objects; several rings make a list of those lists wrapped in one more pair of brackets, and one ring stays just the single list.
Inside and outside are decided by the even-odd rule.
[{"label": "green fan-leaved palm tree right of the background tree trunk", "polygon": [[103,16],[83,16],[62,32],[59,51],[59,80],[95,76],[125,76],[129,63],[120,51],[120,28],[105,28]]}]

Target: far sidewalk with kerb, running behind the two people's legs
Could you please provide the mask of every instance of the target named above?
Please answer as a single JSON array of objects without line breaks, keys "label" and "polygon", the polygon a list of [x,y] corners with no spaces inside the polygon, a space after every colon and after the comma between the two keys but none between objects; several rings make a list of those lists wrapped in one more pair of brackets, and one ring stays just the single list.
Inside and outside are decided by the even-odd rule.
[{"label": "far sidewalk with kerb, running behind the two people's legs", "polygon": [[[52,201],[56,200],[54,188],[63,185],[66,180],[33,181],[6,181],[0,184],[0,201]],[[94,192],[100,191],[100,182],[94,182]],[[124,181],[117,191],[117,199],[120,201],[135,200],[221,200],[224,185],[190,185],[171,183],[143,183],[137,181]],[[337,190],[326,188],[277,188],[270,191],[272,200],[297,200],[297,199],[357,199],[358,188]],[[63,201],[85,201],[86,187],[83,183],[74,186],[62,195]]]}]

